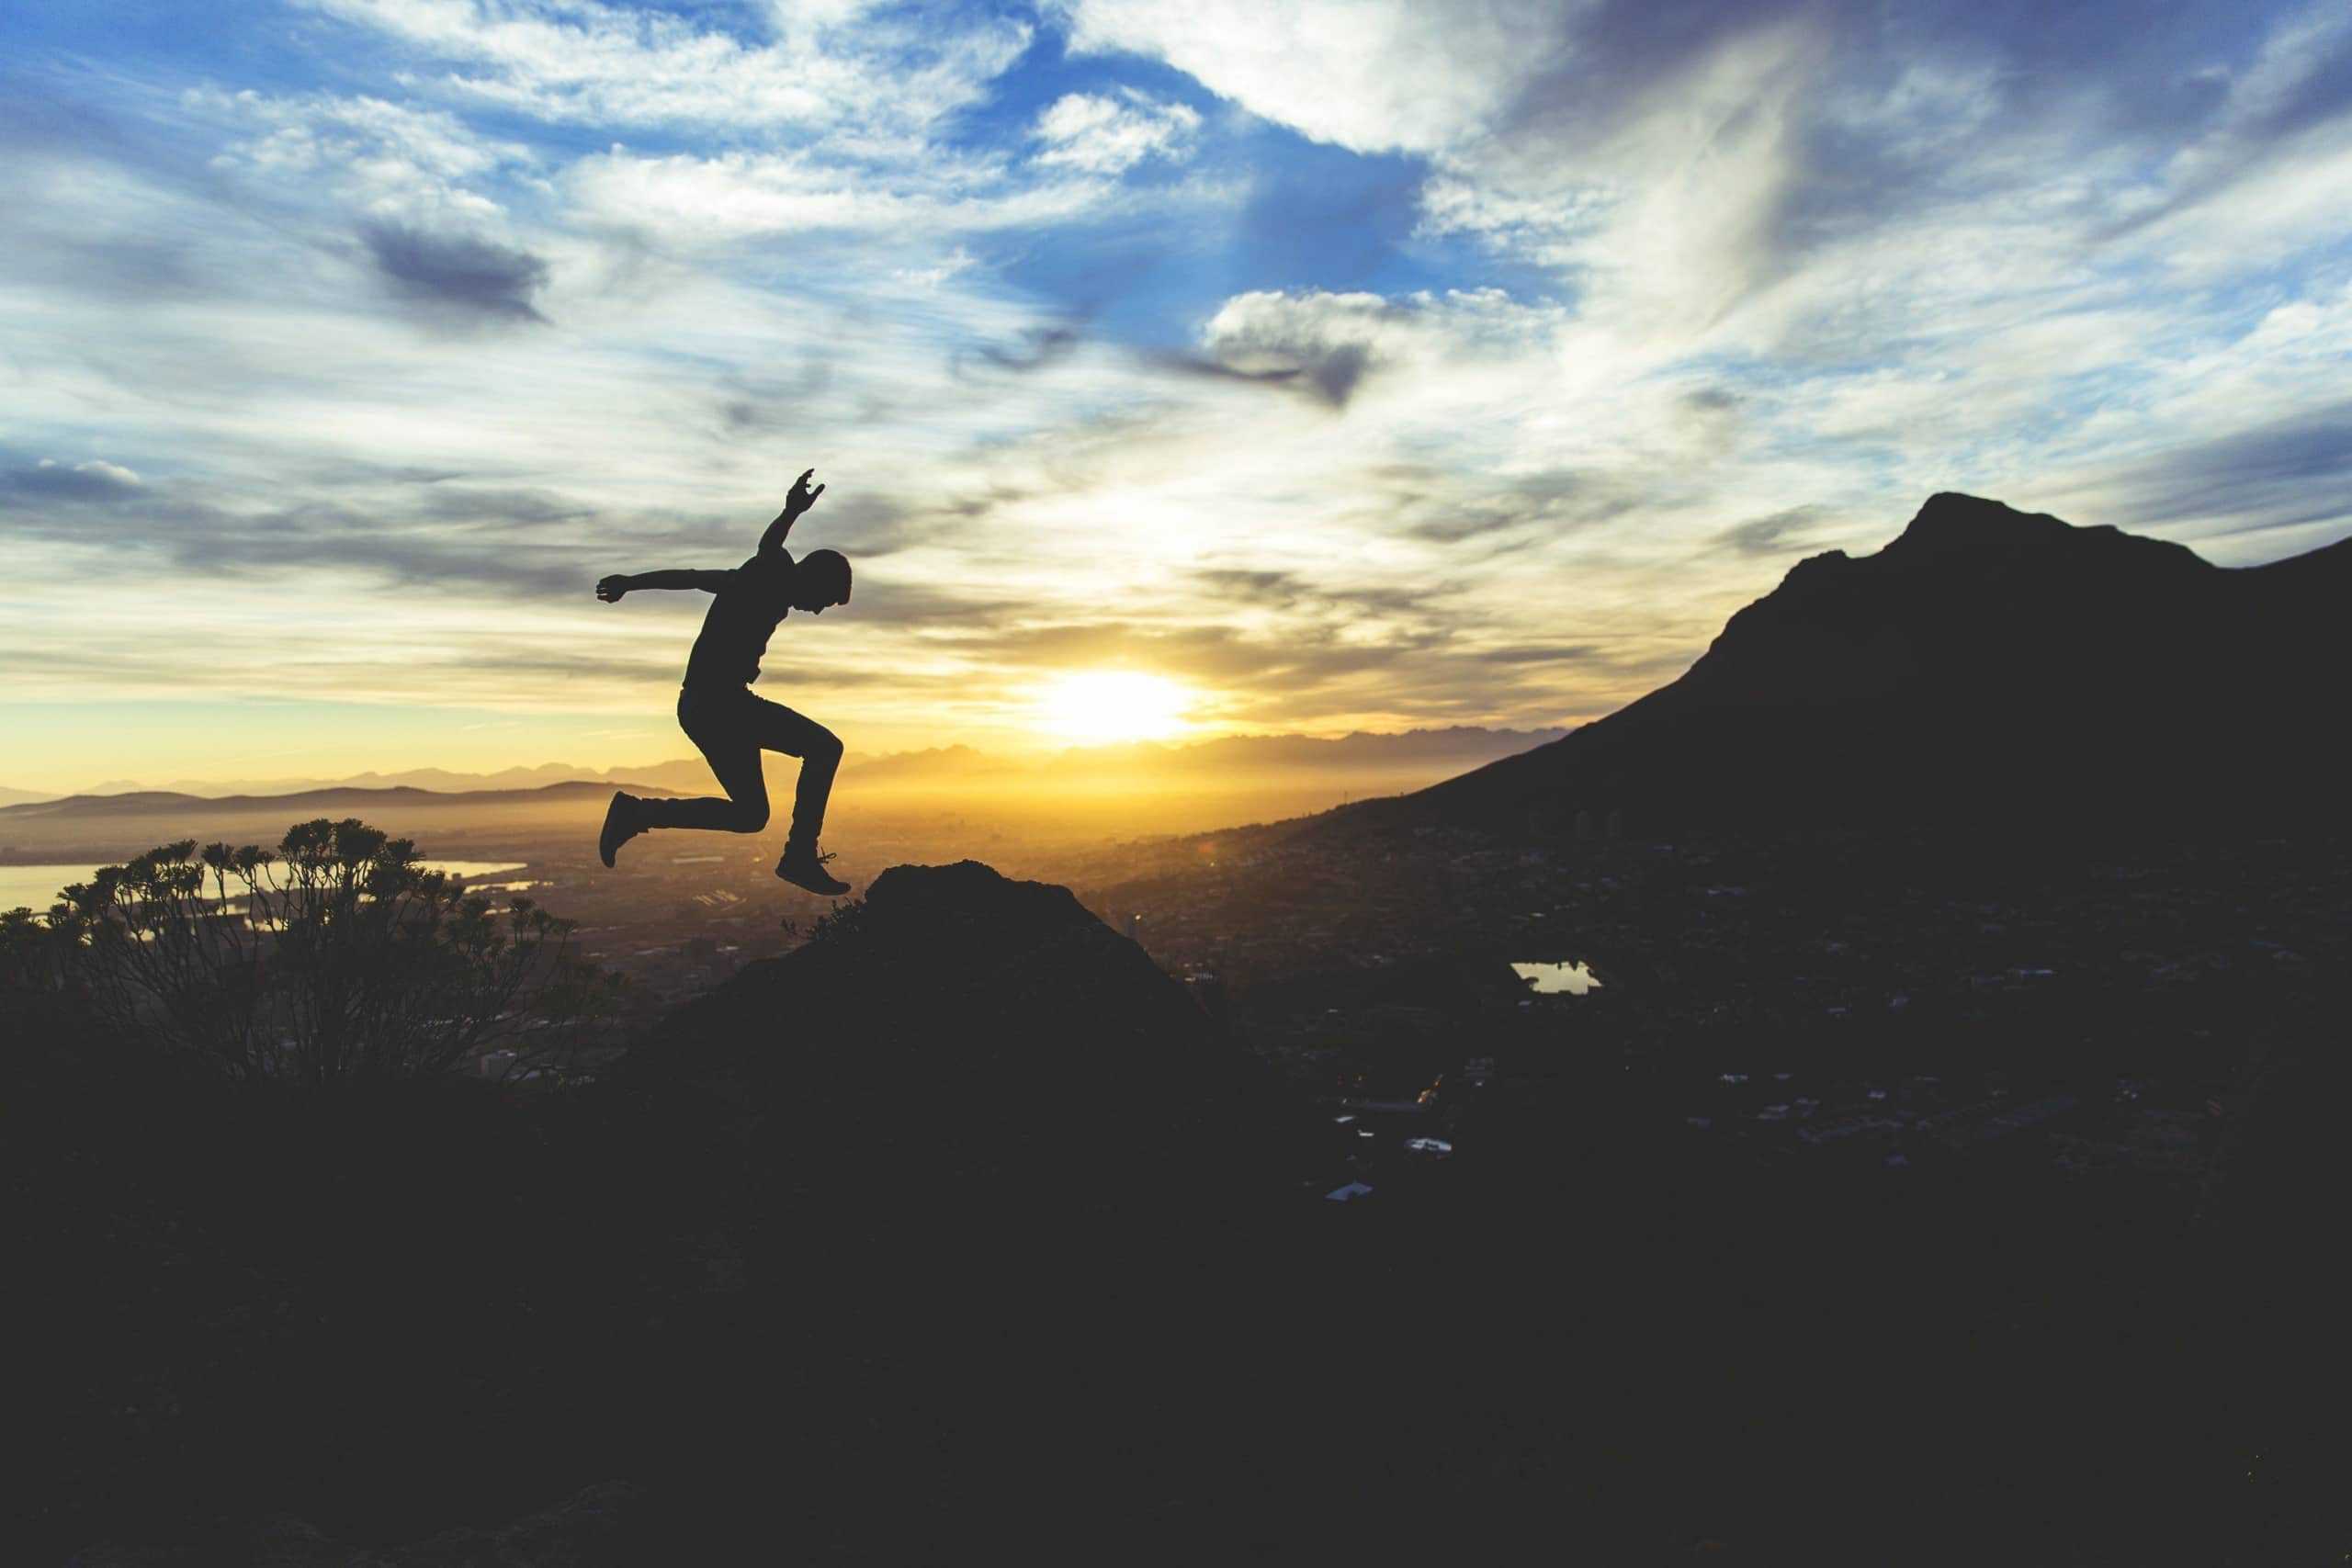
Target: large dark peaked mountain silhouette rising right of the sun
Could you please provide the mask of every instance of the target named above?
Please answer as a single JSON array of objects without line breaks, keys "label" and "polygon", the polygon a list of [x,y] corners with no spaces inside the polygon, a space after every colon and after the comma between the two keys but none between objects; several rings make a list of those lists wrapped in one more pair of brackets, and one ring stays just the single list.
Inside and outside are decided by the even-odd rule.
[{"label": "large dark peaked mountain silhouette rising right of the sun", "polygon": [[1799,562],[1682,679],[1352,823],[2100,823],[2305,816],[2352,541],[2251,569],[1931,496],[1884,550]]}]

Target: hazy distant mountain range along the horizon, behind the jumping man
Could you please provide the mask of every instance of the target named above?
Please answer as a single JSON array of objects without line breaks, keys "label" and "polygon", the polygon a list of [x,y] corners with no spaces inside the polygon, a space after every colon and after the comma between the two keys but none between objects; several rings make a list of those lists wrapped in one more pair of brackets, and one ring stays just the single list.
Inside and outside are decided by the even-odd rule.
[{"label": "hazy distant mountain range along the horizon, behind the jumping man", "polygon": [[[861,757],[856,752],[842,766],[844,778],[866,785],[929,785],[983,778],[1040,778],[1058,780],[1087,776],[1122,776],[1152,771],[1178,778],[1263,778],[1268,773],[1418,773],[1430,776],[1472,769],[1496,757],[1524,752],[1531,745],[1557,741],[1564,729],[1409,729],[1402,733],[1341,736],[1334,741],[1315,736],[1228,736],[1218,741],[1195,741],[1183,745],[1098,745],[1070,748],[1049,757],[1007,757],[981,752],[969,745],[946,745],[920,752],[884,752]],[[675,757],[670,762],[647,762],[612,769],[586,769],[569,762],[543,762],[529,769],[501,769],[496,773],[454,773],[449,769],[405,769],[400,773],[353,773],[348,778],[235,778],[195,780],[181,778],[165,785],[146,785],[115,778],[73,799],[122,799],[132,795],[181,795],[202,799],[228,797],[289,797],[320,790],[423,790],[433,795],[515,795],[546,790],[548,785],[595,783],[654,785],[680,792],[706,792],[713,788],[710,769],[701,757]],[[31,790],[0,790],[0,806],[54,802],[59,797]]]}]

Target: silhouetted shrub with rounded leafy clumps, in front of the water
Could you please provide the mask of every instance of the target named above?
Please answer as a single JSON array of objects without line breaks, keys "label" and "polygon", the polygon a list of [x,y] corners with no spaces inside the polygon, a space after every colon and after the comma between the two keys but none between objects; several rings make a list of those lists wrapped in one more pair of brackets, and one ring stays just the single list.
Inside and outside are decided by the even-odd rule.
[{"label": "silhouetted shrub with rounded leafy clumps, in front of the water", "polygon": [[230,1079],[433,1077],[492,1048],[499,1074],[567,1063],[619,976],[569,952],[572,922],[503,910],[360,820],[278,851],[195,839],[64,889],[47,922],[0,919],[0,983],[61,994],[118,1039]]}]

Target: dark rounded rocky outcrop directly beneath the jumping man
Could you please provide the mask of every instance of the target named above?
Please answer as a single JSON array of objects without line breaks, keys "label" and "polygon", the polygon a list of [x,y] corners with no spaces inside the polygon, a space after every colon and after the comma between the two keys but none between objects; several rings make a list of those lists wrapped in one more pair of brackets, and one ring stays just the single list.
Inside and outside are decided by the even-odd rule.
[{"label": "dark rounded rocky outcrop directly beneath the jumping man", "polygon": [[771,1220],[1000,1239],[1279,1192],[1289,1100],[1061,886],[896,865],[804,947],[682,1009],[633,1081],[703,1095]]}]

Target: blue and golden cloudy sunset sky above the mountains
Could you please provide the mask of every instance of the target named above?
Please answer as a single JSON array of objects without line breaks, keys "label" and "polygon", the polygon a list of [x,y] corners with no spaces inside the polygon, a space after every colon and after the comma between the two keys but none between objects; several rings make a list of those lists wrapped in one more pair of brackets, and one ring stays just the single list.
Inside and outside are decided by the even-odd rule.
[{"label": "blue and golden cloudy sunset sky above the mountains", "polygon": [[2277,559],[2347,214],[2340,0],[12,0],[0,785],[682,755],[593,583],[809,465],[851,752],[1573,724],[1943,489]]}]

